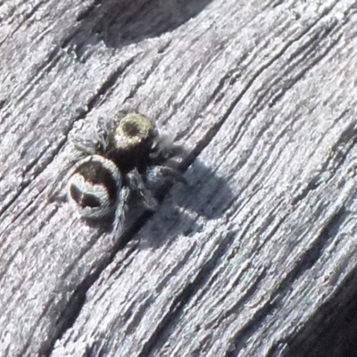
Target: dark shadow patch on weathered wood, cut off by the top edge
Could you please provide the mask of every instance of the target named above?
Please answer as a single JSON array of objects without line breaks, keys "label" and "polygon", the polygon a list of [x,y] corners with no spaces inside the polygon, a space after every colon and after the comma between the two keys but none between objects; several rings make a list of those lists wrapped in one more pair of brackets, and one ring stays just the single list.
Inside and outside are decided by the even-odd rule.
[{"label": "dark shadow patch on weathered wood, cut off by the top edge", "polygon": [[212,0],[96,0],[77,16],[78,26],[63,46],[81,58],[86,48],[103,41],[121,48],[158,37],[197,16]]}]

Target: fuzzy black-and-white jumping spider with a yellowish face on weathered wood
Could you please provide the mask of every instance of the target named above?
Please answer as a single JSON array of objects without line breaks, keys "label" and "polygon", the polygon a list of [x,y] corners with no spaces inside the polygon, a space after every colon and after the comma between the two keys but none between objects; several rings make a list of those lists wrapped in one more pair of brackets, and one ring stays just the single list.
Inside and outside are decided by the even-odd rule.
[{"label": "fuzzy black-and-white jumping spider with a yellowish face on weathered wood", "polygon": [[138,198],[148,210],[156,208],[150,189],[153,182],[186,183],[179,171],[168,165],[178,154],[178,146],[137,112],[100,120],[95,137],[77,138],[74,146],[76,159],[67,184],[68,200],[84,219],[111,217],[115,237],[132,198]]}]

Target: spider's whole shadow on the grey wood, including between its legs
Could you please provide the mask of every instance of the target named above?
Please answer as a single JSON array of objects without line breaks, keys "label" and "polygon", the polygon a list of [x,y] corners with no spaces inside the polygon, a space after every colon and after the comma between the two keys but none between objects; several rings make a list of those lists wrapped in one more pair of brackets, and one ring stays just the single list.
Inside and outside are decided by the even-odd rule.
[{"label": "spider's whole shadow on the grey wood, including between its legs", "polygon": [[[146,248],[158,247],[180,235],[193,237],[203,230],[203,221],[216,220],[224,214],[233,199],[224,178],[195,160],[186,179],[187,185],[166,182],[156,187],[153,193],[159,206],[155,212],[145,211],[139,200],[130,202],[119,237],[112,236],[114,251],[137,237]],[[113,217],[86,221],[89,226],[112,235],[112,220]],[[139,233],[142,228],[145,231]]]}]

